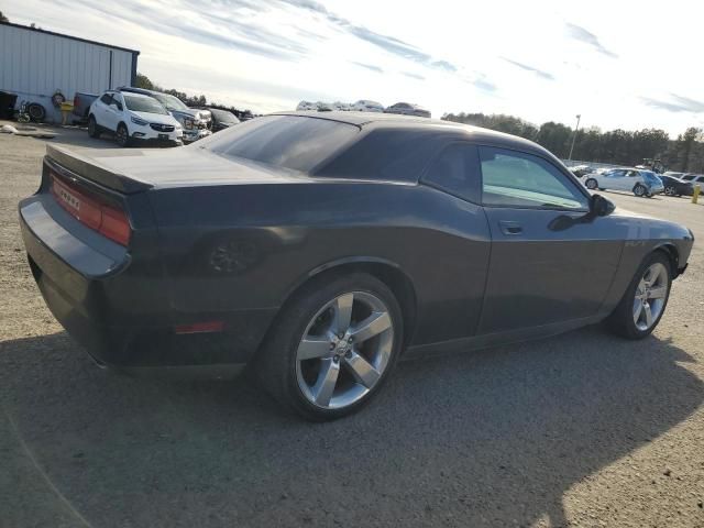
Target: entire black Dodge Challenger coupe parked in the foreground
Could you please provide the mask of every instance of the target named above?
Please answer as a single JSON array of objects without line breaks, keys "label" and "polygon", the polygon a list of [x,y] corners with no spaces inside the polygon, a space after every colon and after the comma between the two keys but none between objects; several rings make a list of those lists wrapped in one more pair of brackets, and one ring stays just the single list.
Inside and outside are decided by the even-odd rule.
[{"label": "entire black Dodge Challenger coupe parked in the foreground", "polygon": [[529,141],[351,112],[175,151],[50,145],[20,219],[46,304],[99,364],[250,364],[310,419],[360,408],[402,355],[601,320],[644,338],[693,243]]}]

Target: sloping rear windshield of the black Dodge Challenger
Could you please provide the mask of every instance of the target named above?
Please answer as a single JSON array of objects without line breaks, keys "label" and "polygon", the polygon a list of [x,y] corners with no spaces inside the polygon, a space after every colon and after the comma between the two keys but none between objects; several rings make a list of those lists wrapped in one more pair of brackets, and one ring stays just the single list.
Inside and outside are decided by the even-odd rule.
[{"label": "sloping rear windshield of the black Dodge Challenger", "polygon": [[354,139],[359,128],[327,119],[268,116],[201,140],[201,148],[231,157],[311,172]]}]

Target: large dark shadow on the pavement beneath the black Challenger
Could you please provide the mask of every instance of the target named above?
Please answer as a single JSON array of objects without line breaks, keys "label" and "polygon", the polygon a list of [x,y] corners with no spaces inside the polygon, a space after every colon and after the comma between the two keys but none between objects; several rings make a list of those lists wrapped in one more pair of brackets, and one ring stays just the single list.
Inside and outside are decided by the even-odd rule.
[{"label": "large dark shadow on the pavement beneath the black Challenger", "polygon": [[[327,425],[283,415],[246,380],[99,371],[64,333],[0,346],[9,437],[100,527],[468,527],[541,517],[563,526],[569,487],[668,431],[704,396],[680,349],[619,341],[598,327],[402,363],[370,408]],[[36,468],[8,475],[6,485],[16,484],[0,490],[11,497],[11,526],[34,525],[55,499],[12,497],[38,490],[22,484],[35,476]]]}]

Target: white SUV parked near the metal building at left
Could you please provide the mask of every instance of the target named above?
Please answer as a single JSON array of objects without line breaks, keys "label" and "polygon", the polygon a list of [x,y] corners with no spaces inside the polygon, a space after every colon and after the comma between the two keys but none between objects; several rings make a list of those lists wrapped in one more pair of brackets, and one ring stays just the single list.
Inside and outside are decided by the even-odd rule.
[{"label": "white SUV parked near the metal building at left", "polygon": [[120,146],[138,141],[182,144],[184,129],[170,113],[151,96],[106,91],[90,105],[88,134],[114,133]]}]

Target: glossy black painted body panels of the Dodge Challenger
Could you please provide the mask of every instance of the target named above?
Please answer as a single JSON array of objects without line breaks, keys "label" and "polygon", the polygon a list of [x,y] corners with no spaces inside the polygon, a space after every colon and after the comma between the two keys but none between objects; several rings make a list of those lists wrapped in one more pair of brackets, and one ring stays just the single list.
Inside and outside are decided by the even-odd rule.
[{"label": "glossy black painted body panels of the Dodge Challenger", "polygon": [[[554,156],[514,136],[427,119],[332,112],[311,119],[346,120],[367,132],[411,129],[427,134],[436,153],[455,141],[528,152],[588,196]],[[490,208],[422,180],[289,174],[209,157],[197,145],[170,152],[180,157],[131,151],[96,163],[53,148],[42,187],[20,204],[47,305],[100,363],[244,364],[302,284],[352,268],[394,286],[409,355],[546,336],[606,317],[658,248],[683,270],[693,241],[685,228],[619,211]],[[169,173],[169,163],[186,158],[201,165],[198,180],[187,166]],[[133,229],[128,251],[106,248],[55,206],[47,194],[51,165],[124,204]],[[155,165],[162,169],[152,170]],[[152,168],[140,173],[140,166]],[[521,232],[504,234],[499,222],[515,222]],[[96,273],[91,252],[112,257],[112,266]],[[209,320],[224,321],[224,332],[174,332]]]}]

